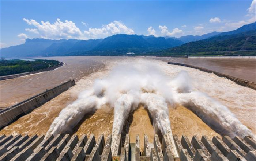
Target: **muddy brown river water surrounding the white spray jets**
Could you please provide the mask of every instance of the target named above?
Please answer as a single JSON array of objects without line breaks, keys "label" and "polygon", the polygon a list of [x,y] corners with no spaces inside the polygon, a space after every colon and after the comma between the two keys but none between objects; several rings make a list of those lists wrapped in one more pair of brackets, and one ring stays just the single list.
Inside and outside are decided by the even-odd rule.
[{"label": "muddy brown river water surrounding the white spray jets", "polygon": [[[30,114],[19,118],[11,125],[2,129],[0,134],[46,134],[54,118],[59,115],[63,108],[75,101],[81,91],[87,89],[89,86],[92,86],[96,78],[107,76],[112,67],[116,66],[116,64],[122,61],[134,62],[141,60],[143,62],[145,60],[147,63],[158,63],[165,68],[170,67],[165,65],[168,61],[187,63],[218,72],[223,71],[225,74],[249,81],[253,81],[253,77],[255,78],[256,73],[255,59],[189,60],[187,58],[128,58],[100,56],[52,57],[42,59],[59,60],[66,63],[66,65],[53,71],[1,81],[1,107],[13,105],[16,102],[22,101],[23,99],[31,97],[34,94],[40,93],[45,89],[54,87],[59,83],[65,82],[69,79],[75,79],[77,85],[60,94],[51,101],[45,103],[41,107],[35,109]],[[163,68],[163,70],[165,70],[165,68]],[[182,67],[182,70],[184,69],[187,70],[192,77],[196,77],[195,69]],[[177,68],[177,70],[175,69],[174,71],[178,72],[180,71],[180,68]],[[204,74],[204,72],[200,73]],[[167,74],[169,73],[167,72]],[[202,78],[207,79],[208,76],[208,74],[205,74],[205,76]],[[230,96],[230,91],[230,93],[227,92],[225,97],[223,97],[222,95],[225,93],[225,87],[222,89],[222,87],[219,86],[218,80],[224,81],[224,83],[227,84],[226,88],[237,88],[235,93],[238,96]],[[215,83],[213,85],[217,86],[216,88],[218,90],[215,91],[212,89],[207,89],[206,87],[202,87],[203,91],[227,105],[229,109],[237,115],[238,119],[244,123],[244,125],[251,129],[253,133],[256,133],[256,118],[254,115],[256,112],[255,103],[253,103],[253,101],[246,101],[246,99],[241,99],[241,101],[238,100],[238,97],[240,97],[239,94],[243,94],[244,96],[247,93],[252,94],[251,98],[249,99],[254,98],[255,100],[255,90],[247,89],[246,87],[239,85],[234,85],[229,80],[224,80],[223,78],[219,78],[218,76],[214,75],[211,75],[209,81]],[[231,83],[231,85],[228,83]],[[244,108],[246,107],[248,108],[245,110]],[[112,133],[113,118],[113,109],[110,109],[109,107],[103,107],[95,111],[95,113],[90,113],[84,116],[82,121],[80,121],[80,123],[74,127],[74,129],[69,129],[68,133],[76,133],[79,136],[82,134],[95,134],[96,138],[101,134],[106,136]],[[208,136],[218,135],[214,130],[206,125],[206,123],[197,117],[197,115],[183,106],[178,106],[176,108],[170,107],[169,118],[171,121],[173,134],[178,134],[179,137],[181,137],[182,134],[187,135],[189,138],[192,138],[192,136],[195,134]],[[141,140],[143,140],[144,134],[147,134],[149,136],[149,141],[153,142],[153,136],[155,134],[154,127],[150,122],[147,111],[144,110],[143,107],[139,107],[139,109],[133,113],[132,122],[127,133],[130,134],[131,142],[135,142],[135,136],[137,134],[140,135]]]}]

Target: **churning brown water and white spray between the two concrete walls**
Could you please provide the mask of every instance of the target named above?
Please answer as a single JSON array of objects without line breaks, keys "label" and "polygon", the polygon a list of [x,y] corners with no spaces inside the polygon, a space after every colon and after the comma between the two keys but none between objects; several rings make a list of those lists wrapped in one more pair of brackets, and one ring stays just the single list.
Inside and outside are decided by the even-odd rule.
[{"label": "churning brown water and white spray between the two concrete walls", "polygon": [[128,124],[127,133],[148,134],[150,140],[157,131],[255,136],[255,90],[151,58],[91,59],[104,68],[80,77],[76,86],[0,133],[103,133],[115,138]]}]

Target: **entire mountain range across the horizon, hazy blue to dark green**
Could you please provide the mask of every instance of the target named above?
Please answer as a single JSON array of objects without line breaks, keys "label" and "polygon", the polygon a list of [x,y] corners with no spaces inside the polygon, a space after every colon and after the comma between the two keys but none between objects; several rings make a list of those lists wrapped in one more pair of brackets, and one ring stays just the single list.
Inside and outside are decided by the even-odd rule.
[{"label": "entire mountain range across the horizon, hazy blue to dark green", "polygon": [[[256,23],[229,32],[211,32],[202,36],[155,37],[117,34],[105,39],[26,39],[21,45],[2,48],[1,57],[21,58],[72,55],[193,55],[203,52],[247,51],[255,55]],[[251,52],[251,50],[253,50]],[[206,54],[207,55],[207,54]]]}]

